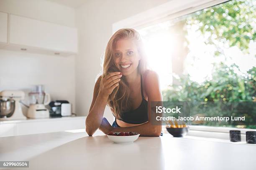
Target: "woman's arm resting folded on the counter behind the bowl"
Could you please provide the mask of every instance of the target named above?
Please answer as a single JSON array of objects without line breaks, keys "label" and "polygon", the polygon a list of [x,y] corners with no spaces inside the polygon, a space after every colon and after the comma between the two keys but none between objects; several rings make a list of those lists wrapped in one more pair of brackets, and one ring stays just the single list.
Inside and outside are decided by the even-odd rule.
[{"label": "woman's arm resting folded on the counter behind the bowl", "polygon": [[111,132],[137,132],[141,136],[159,136],[161,135],[162,126],[152,125],[151,120],[155,117],[151,117],[151,101],[162,101],[162,94],[159,84],[159,77],[156,72],[149,70],[145,78],[146,93],[148,96],[148,118],[149,121],[138,126],[125,127],[125,128],[113,128],[106,119],[102,120],[100,130],[103,133]]}]

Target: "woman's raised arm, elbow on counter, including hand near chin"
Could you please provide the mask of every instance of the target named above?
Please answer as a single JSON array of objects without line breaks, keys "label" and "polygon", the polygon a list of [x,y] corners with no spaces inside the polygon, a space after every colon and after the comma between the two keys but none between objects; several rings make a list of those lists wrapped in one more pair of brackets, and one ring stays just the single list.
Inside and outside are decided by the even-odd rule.
[{"label": "woman's raised arm, elbow on counter, including hand near chin", "polygon": [[121,76],[119,74],[120,72],[110,73],[103,78],[102,85],[100,85],[102,79],[102,76],[100,76],[95,83],[92,103],[85,121],[85,130],[89,136],[92,136],[101,125],[108,96],[119,84]]}]

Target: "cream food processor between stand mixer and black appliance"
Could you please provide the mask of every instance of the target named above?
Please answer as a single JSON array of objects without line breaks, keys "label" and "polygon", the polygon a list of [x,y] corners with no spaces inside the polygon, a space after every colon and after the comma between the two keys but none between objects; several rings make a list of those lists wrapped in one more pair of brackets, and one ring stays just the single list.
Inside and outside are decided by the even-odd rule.
[{"label": "cream food processor between stand mixer and black appliance", "polygon": [[50,117],[49,110],[45,107],[48,105],[51,97],[44,92],[44,85],[36,85],[28,93],[30,105],[28,107],[27,117],[29,118],[47,118]]}]

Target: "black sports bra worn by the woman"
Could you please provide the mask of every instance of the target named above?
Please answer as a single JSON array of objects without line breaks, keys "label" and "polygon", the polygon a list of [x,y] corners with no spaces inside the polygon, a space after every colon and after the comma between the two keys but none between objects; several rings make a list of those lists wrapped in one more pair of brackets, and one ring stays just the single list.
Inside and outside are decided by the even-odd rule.
[{"label": "black sports bra worn by the woman", "polygon": [[141,96],[142,96],[141,105],[135,110],[122,112],[120,114],[121,116],[119,120],[122,120],[126,123],[131,123],[131,124],[141,124],[148,121],[148,101],[145,100],[143,96],[142,76],[141,76]]}]

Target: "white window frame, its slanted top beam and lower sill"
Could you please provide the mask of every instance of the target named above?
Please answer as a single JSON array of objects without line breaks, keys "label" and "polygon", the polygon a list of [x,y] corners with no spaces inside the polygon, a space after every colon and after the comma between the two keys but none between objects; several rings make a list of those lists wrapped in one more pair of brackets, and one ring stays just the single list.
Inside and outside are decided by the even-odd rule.
[{"label": "white window frame, its slanted top beam and lower sill", "polygon": [[[133,15],[124,20],[120,20],[112,25],[112,32],[121,28],[141,29],[157,23],[162,23],[167,20],[175,20],[176,18],[195,13],[198,10],[203,10],[207,7],[212,7],[230,0],[171,0],[162,5],[153,7],[137,15]],[[190,130],[229,133],[229,130],[240,130],[241,134],[246,134],[246,131],[255,131],[255,129],[246,128],[229,128],[229,127],[212,127],[190,125]]]}]

